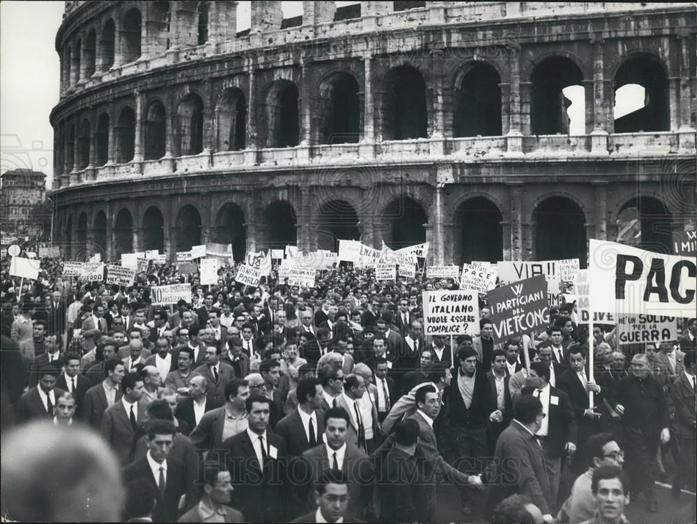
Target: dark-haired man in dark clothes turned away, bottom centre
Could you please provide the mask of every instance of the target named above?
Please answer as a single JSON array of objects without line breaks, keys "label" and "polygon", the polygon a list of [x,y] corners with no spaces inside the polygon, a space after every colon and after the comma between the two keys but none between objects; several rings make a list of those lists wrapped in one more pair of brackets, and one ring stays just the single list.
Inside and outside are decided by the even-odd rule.
[{"label": "dark-haired man in dark clothes turned away, bottom centre", "polygon": [[395,425],[395,446],[385,456],[378,477],[380,492],[380,521],[424,522],[427,515],[424,490],[418,461],[414,458],[419,443],[419,424],[412,418]]}]

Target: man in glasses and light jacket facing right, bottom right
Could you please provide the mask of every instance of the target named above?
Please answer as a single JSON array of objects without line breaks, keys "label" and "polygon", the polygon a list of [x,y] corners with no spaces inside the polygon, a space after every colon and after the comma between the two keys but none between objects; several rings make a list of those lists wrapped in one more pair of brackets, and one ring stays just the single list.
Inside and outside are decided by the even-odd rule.
[{"label": "man in glasses and light jacket facing right, bottom right", "polygon": [[579,476],[571,489],[571,495],[560,509],[557,520],[569,524],[579,524],[591,518],[597,509],[591,491],[593,472],[601,466],[622,467],[625,454],[611,433],[590,436],[582,454],[588,470]]}]

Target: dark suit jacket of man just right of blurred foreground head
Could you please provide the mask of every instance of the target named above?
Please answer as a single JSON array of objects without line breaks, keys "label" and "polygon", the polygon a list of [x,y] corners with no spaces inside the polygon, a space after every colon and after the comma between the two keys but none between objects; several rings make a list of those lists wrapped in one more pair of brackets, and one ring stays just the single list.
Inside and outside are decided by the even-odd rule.
[{"label": "dark suit jacket of man just right of blurred foreground head", "polygon": [[153,522],[176,522],[177,508],[181,495],[187,493],[185,466],[177,459],[167,459],[167,483],[164,495],[158,488],[158,479],[153,476],[147,457],[137,459],[122,470],[124,484],[135,479],[147,479],[155,488]]}]

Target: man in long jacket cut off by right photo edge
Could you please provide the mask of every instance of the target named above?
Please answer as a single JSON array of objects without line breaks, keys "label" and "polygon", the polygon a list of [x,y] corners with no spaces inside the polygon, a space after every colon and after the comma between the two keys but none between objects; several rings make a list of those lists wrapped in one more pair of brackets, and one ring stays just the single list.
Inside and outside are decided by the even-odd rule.
[{"label": "man in long jacket cut off by right photo edge", "polygon": [[697,363],[695,351],[684,358],[684,372],[671,386],[671,399],[675,407],[675,436],[680,447],[680,460],[673,479],[673,498],[680,498],[680,489],[687,484],[694,491],[695,486],[695,391],[697,384]]}]

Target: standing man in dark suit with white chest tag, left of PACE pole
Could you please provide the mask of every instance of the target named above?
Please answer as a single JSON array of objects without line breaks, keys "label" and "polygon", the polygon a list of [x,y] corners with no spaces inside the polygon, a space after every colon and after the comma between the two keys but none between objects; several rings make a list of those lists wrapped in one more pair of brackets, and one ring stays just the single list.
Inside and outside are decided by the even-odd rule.
[{"label": "standing man in dark suit with white chest tag, left of PACE pole", "polygon": [[[576,417],[569,396],[549,385],[550,366],[543,362],[530,364],[526,392],[542,402],[544,418],[535,436],[542,446],[544,465],[549,479],[550,506],[556,506],[561,479],[562,457],[576,451]],[[532,386],[532,388],[530,388]]]}]

